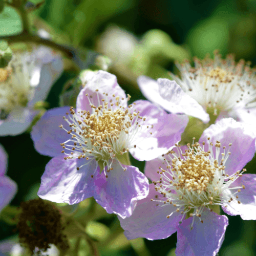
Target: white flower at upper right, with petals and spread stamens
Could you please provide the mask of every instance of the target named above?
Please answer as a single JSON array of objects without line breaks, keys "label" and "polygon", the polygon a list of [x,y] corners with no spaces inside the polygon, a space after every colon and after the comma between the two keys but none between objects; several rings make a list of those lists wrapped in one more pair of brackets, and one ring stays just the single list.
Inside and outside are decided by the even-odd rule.
[{"label": "white flower at upper right, with petals and spread stamens", "polygon": [[234,61],[233,55],[222,59],[195,58],[195,67],[188,61],[177,63],[180,78],[157,81],[141,76],[139,87],[144,96],[172,113],[184,113],[214,123],[232,117],[256,130],[256,76],[249,62]]}]

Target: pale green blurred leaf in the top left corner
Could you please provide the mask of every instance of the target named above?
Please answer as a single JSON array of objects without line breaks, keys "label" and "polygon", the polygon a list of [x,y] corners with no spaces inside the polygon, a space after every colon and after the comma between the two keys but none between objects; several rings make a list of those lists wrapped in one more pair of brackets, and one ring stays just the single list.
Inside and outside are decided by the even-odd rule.
[{"label": "pale green blurred leaf in the top left corner", "polygon": [[5,6],[0,13],[0,36],[18,34],[22,32],[22,21],[18,13],[11,7]]}]

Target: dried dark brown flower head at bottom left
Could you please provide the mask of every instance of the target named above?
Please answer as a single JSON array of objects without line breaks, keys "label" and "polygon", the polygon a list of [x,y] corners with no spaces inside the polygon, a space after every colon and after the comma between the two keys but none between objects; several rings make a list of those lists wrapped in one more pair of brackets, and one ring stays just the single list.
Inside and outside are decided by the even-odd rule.
[{"label": "dried dark brown flower head at bottom left", "polygon": [[69,248],[67,238],[62,234],[65,227],[61,224],[60,212],[50,202],[33,199],[22,202],[20,207],[22,213],[17,224],[19,242],[32,254],[36,247],[38,255],[41,251],[45,252],[50,244],[61,250]]}]

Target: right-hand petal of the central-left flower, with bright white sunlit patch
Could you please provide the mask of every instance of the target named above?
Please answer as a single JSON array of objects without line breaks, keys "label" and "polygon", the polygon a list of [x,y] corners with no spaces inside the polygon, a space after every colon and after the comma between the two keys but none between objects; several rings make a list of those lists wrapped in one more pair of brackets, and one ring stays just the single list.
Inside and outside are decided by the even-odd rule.
[{"label": "right-hand petal of the central-left flower, with bright white sunlit patch", "polygon": [[138,130],[134,140],[136,148],[130,149],[134,158],[140,161],[155,159],[181,140],[181,134],[188,122],[187,116],[167,114],[147,100],[138,100],[134,103],[136,112],[139,111],[140,116],[145,118],[142,129]]}]

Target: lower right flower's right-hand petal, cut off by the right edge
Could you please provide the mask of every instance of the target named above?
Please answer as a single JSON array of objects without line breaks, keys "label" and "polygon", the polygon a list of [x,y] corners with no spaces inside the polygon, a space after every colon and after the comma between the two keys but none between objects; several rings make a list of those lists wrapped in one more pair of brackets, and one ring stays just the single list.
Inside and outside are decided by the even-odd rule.
[{"label": "lower right flower's right-hand petal, cut off by the right edge", "polygon": [[[230,185],[230,188],[242,185],[245,188],[241,188],[240,193],[237,194],[241,204],[238,204],[237,200],[233,200],[227,203],[227,207],[222,206],[222,209],[231,216],[240,215],[243,220],[256,220],[256,175],[243,174]],[[234,193],[236,190],[232,189],[231,191]]]}]

